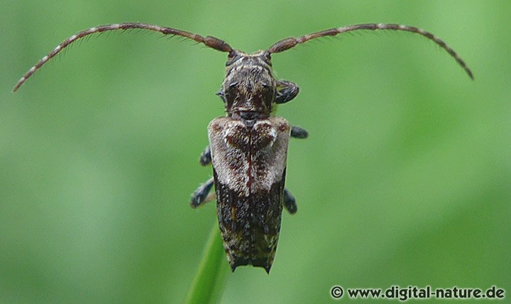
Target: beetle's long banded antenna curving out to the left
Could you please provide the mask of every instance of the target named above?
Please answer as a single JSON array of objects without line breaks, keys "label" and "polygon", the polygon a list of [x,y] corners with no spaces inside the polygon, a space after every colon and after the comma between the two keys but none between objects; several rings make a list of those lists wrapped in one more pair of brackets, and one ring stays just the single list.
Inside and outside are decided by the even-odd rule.
[{"label": "beetle's long banded antenna curving out to the left", "polygon": [[82,39],[86,36],[93,35],[96,33],[102,33],[109,30],[131,30],[139,28],[141,30],[153,30],[155,32],[162,33],[163,35],[177,35],[181,36],[187,39],[194,40],[197,43],[204,43],[207,47],[211,47],[214,50],[218,50],[220,52],[232,52],[232,47],[224,42],[223,40],[220,40],[218,38],[214,38],[211,36],[202,37],[201,35],[196,35],[193,33],[189,33],[185,30],[177,30],[175,28],[165,28],[161,26],[153,26],[151,24],[145,24],[145,23],[119,23],[119,24],[107,24],[105,26],[97,26],[94,28],[88,28],[87,30],[82,30],[79,33],[76,33],[75,35],[72,35],[70,38],[67,38],[66,40],[62,41],[59,45],[57,45],[51,52],[48,53],[45,57],[43,57],[41,60],[39,60],[38,63],[36,63],[31,69],[26,72],[21,79],[19,79],[16,86],[13,88],[13,92],[15,92],[28,78],[30,78],[35,72],[40,69],[40,67],[43,67],[43,65],[48,62],[48,60],[52,59],[57,55],[60,51],[65,49],[65,47],[69,46],[70,44],[74,43],[76,40]]}]

